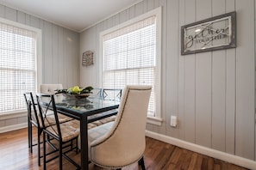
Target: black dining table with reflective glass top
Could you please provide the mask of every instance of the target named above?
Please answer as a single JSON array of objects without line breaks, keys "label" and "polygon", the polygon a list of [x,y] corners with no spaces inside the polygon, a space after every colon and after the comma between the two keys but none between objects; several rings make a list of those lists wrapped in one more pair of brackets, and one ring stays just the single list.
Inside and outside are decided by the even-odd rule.
[{"label": "black dining table with reflective glass top", "polygon": [[89,169],[88,124],[117,113],[119,100],[104,100],[89,96],[85,99],[62,99],[56,102],[57,112],[78,119],[80,122],[81,169]]}]

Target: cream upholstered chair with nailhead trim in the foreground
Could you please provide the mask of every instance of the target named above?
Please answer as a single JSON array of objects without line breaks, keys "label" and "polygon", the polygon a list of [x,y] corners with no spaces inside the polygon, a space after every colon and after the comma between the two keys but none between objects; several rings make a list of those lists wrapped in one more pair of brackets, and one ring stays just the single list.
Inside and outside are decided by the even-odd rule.
[{"label": "cream upholstered chair with nailhead trim in the foreground", "polygon": [[114,122],[88,131],[90,161],[105,168],[121,169],[139,162],[145,169],[143,153],[151,86],[126,86]]}]

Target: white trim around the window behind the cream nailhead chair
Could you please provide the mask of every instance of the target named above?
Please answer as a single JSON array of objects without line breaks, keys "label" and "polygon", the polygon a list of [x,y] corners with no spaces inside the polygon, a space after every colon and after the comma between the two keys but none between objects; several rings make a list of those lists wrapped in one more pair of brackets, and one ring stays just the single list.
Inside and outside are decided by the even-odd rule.
[{"label": "white trim around the window behind the cream nailhead chair", "polygon": [[111,33],[117,29],[120,29],[122,27],[127,27],[128,25],[133,24],[134,22],[146,19],[147,17],[150,17],[152,15],[156,15],[157,20],[156,20],[156,65],[157,65],[157,76],[156,76],[156,87],[155,87],[155,91],[156,91],[156,113],[155,113],[155,117],[147,117],[147,123],[149,124],[156,124],[156,125],[161,125],[162,123],[162,114],[161,114],[161,26],[162,26],[162,8],[159,7],[157,9],[153,9],[143,15],[139,15],[137,17],[135,17],[132,20],[129,21],[125,21],[120,25],[117,25],[115,27],[111,27],[101,33],[99,33],[99,42],[100,42],[100,58],[99,58],[99,77],[102,77],[99,80],[99,84],[97,84],[99,87],[102,86],[103,84],[103,35],[107,34],[107,33]]}]

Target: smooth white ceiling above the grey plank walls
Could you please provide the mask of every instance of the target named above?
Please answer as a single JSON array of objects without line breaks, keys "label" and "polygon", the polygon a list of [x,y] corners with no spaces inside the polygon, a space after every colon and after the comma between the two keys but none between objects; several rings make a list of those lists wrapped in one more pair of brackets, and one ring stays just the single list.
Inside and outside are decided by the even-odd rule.
[{"label": "smooth white ceiling above the grey plank walls", "polygon": [[5,6],[81,32],[141,0],[0,0]]}]

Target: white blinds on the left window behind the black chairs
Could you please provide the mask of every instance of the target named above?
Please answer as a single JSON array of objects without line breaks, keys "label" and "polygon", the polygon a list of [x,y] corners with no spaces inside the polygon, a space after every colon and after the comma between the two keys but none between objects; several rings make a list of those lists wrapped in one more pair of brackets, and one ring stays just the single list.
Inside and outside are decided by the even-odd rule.
[{"label": "white blinds on the left window behind the black chairs", "polygon": [[36,33],[0,22],[0,114],[25,109],[24,92],[35,92]]}]

